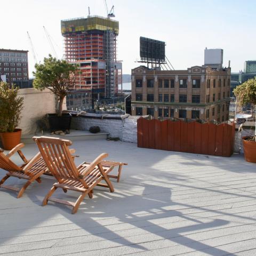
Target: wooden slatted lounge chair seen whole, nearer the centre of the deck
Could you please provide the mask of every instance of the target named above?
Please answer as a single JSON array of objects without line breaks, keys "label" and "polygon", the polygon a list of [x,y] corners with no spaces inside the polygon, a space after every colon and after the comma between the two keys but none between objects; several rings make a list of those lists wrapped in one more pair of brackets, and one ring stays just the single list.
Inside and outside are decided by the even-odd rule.
[{"label": "wooden slatted lounge chair seen whole, nearer the centre of the deck", "polygon": [[[76,166],[74,158],[71,157],[68,149],[68,146],[72,144],[70,140],[52,137],[34,137],[33,139],[35,140],[49,171],[58,180],[57,183],[53,184],[53,187],[45,196],[43,206],[46,205],[48,201],[52,201],[73,206],[72,213],[76,213],[86,195],[92,198],[93,188],[95,186],[108,187],[110,192],[114,192],[108,173],[117,165],[119,165],[121,171],[121,167],[124,163],[102,161],[102,159],[108,156],[107,153],[103,153],[92,163],[84,162]],[[114,178],[118,179],[118,175]],[[106,184],[100,183],[102,180],[105,180]],[[51,197],[57,188],[62,188],[64,191],[77,191],[82,193],[82,195],[78,197],[75,203],[63,201]]]}]

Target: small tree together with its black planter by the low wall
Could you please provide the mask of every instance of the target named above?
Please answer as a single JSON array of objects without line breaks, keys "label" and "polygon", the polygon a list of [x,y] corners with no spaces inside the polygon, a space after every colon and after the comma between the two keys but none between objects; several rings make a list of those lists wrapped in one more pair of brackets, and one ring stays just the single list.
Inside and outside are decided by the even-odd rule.
[{"label": "small tree together with its black planter by the low wall", "polygon": [[68,90],[74,88],[77,65],[66,60],[57,60],[49,54],[49,58],[44,58],[43,64],[36,64],[35,69],[33,86],[38,90],[49,89],[57,99],[56,113],[49,114],[50,130],[52,132],[69,130],[71,115],[62,113],[62,105]]}]

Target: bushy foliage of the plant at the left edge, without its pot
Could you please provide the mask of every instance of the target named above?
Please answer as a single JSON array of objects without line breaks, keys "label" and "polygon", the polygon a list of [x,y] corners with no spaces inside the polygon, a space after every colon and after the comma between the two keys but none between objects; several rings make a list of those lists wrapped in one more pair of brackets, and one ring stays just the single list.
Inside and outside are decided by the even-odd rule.
[{"label": "bushy foliage of the plant at the left edge, without its pot", "polygon": [[14,132],[19,124],[24,98],[18,92],[18,87],[0,82],[0,132]]}]

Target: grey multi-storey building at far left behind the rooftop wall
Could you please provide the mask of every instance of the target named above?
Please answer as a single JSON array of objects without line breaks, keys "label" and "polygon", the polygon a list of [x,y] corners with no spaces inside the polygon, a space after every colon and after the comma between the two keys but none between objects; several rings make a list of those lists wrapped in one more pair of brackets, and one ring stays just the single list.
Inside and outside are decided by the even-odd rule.
[{"label": "grey multi-storey building at far left behind the rooftop wall", "polygon": [[0,49],[0,75],[8,83],[28,81],[28,51]]}]

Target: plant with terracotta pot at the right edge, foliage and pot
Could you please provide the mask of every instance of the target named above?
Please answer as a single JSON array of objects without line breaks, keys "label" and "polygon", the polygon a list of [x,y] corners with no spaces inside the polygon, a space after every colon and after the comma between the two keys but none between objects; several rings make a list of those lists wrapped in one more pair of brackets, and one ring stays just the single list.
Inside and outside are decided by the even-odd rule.
[{"label": "plant with terracotta pot at the right edge, foliage and pot", "polygon": [[[238,106],[242,107],[250,103],[253,107],[256,107],[256,78],[254,77],[238,85],[234,90],[234,94]],[[243,147],[245,160],[256,163],[256,129],[254,136],[243,137]]]}]

